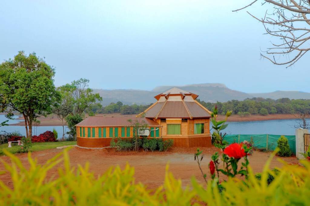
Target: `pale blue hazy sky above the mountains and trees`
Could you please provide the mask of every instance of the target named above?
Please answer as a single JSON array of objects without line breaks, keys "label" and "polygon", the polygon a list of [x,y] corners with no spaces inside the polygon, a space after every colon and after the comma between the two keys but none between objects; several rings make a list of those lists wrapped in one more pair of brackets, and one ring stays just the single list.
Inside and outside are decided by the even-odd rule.
[{"label": "pale blue hazy sky above the mountains and trees", "polygon": [[244,92],[310,92],[309,54],[295,66],[261,60],[270,36],[249,0],[1,1],[0,62],[36,52],[55,85],[90,79],[97,89],[224,83]]}]

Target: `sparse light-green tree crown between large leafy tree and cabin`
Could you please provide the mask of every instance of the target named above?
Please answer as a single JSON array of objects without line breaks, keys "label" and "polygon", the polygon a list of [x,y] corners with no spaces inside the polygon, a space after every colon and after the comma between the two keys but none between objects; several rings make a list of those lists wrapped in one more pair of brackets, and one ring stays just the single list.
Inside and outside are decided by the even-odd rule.
[{"label": "sparse light-green tree crown between large leafy tree and cabin", "polygon": [[88,79],[79,79],[60,87],[66,98],[71,98],[73,104],[72,114],[82,115],[82,113],[96,101],[102,101],[99,93],[93,94],[93,90],[88,88]]}]

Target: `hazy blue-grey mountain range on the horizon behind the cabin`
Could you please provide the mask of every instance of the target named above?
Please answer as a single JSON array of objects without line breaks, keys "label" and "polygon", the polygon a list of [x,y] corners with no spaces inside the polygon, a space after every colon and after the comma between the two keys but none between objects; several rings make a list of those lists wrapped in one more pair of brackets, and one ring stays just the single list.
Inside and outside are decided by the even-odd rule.
[{"label": "hazy blue-grey mountain range on the horizon behind the cabin", "polygon": [[[154,96],[169,90],[175,86],[157,86],[153,90],[132,90],[132,89],[117,89],[103,90],[94,89],[95,93],[99,93],[102,97],[102,104],[108,105],[111,102],[122,102],[124,104],[149,104],[154,103]],[[199,95],[198,99],[205,102],[227,102],[232,99],[244,100],[246,98],[263,97],[265,99],[310,99],[310,93],[301,91],[274,91],[268,93],[245,93],[237,90],[229,89],[224,84],[220,83],[205,83],[177,86],[178,88]]]}]

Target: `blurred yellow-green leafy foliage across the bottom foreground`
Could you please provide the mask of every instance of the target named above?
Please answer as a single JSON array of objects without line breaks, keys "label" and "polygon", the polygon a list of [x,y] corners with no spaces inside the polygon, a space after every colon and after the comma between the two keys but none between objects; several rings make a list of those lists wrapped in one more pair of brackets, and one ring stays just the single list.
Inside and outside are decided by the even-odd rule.
[{"label": "blurred yellow-green leafy foliage across the bottom foreground", "polygon": [[[203,186],[193,177],[191,186],[184,187],[168,167],[164,185],[151,191],[135,183],[135,170],[129,165],[124,170],[111,167],[97,176],[89,171],[88,163],[70,166],[67,150],[44,165],[29,153],[29,169],[16,156],[5,153],[11,163],[1,162],[5,172],[11,174],[14,187],[0,180],[0,205],[307,205],[310,195],[310,163],[305,160],[301,161],[305,167],[283,162],[276,175],[268,169],[269,159],[260,180],[249,166],[248,179],[229,178],[221,184],[225,190],[219,193],[211,179]],[[51,175],[57,165],[58,175]],[[269,174],[274,179],[268,185]]]}]

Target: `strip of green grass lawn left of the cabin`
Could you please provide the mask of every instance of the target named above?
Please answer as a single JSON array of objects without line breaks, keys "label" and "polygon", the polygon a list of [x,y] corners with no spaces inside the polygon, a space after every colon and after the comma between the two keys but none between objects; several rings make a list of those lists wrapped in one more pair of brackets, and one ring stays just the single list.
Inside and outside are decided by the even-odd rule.
[{"label": "strip of green grass lawn left of the cabin", "polygon": [[[32,143],[32,147],[29,149],[30,152],[33,151],[39,151],[39,150],[44,150],[44,149],[52,149],[60,146],[65,146],[65,145],[76,145],[76,141],[61,141],[61,142],[36,142]],[[11,153],[16,153],[18,146],[17,143],[13,143],[12,147],[8,147],[8,143],[0,145],[0,155],[4,155],[3,149],[8,150]]]}]

